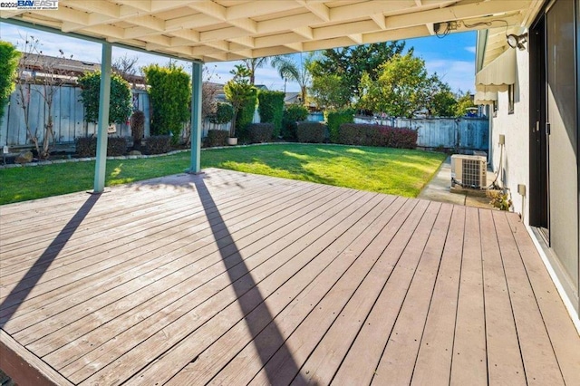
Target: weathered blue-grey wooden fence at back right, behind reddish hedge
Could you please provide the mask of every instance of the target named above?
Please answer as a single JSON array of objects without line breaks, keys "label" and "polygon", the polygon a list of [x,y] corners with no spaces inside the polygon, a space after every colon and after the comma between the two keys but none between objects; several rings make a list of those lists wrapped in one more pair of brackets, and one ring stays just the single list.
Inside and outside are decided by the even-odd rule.
[{"label": "weathered blue-grey wooden fence at back right, behind reddish hedge", "polygon": [[420,148],[488,150],[489,121],[486,117],[396,118],[386,120],[356,117],[354,121],[417,130],[417,146]]}]

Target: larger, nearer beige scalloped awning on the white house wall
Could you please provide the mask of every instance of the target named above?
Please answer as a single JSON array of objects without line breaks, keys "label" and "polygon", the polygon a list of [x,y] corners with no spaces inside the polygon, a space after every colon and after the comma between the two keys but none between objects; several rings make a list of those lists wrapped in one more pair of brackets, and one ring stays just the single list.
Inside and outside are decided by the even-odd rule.
[{"label": "larger, nearer beige scalloped awning on the white house wall", "polygon": [[514,83],[516,83],[516,50],[511,48],[482,68],[475,76],[477,92],[506,92],[507,86]]}]

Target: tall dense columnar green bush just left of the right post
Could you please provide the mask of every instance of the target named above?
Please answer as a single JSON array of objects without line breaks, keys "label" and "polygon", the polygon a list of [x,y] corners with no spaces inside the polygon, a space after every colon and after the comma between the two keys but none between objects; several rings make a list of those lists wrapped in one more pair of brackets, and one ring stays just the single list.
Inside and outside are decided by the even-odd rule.
[{"label": "tall dense columnar green bush just left of the right post", "polygon": [[182,67],[169,64],[160,67],[150,64],[143,68],[145,80],[150,86],[148,93],[153,105],[151,133],[154,135],[172,133],[177,143],[183,123],[189,121],[191,102],[191,77]]}]

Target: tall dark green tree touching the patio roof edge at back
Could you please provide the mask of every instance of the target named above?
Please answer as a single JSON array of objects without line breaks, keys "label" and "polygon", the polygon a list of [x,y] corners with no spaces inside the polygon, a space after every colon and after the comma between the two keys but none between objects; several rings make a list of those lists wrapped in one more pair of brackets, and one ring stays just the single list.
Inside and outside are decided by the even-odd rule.
[{"label": "tall dark green tree touching the patio roof edge at back", "polygon": [[404,48],[405,42],[395,41],[324,50],[310,65],[313,82],[326,75],[338,75],[349,90],[349,100],[357,99],[362,74],[366,72],[375,81],[381,64],[401,54]]}]

